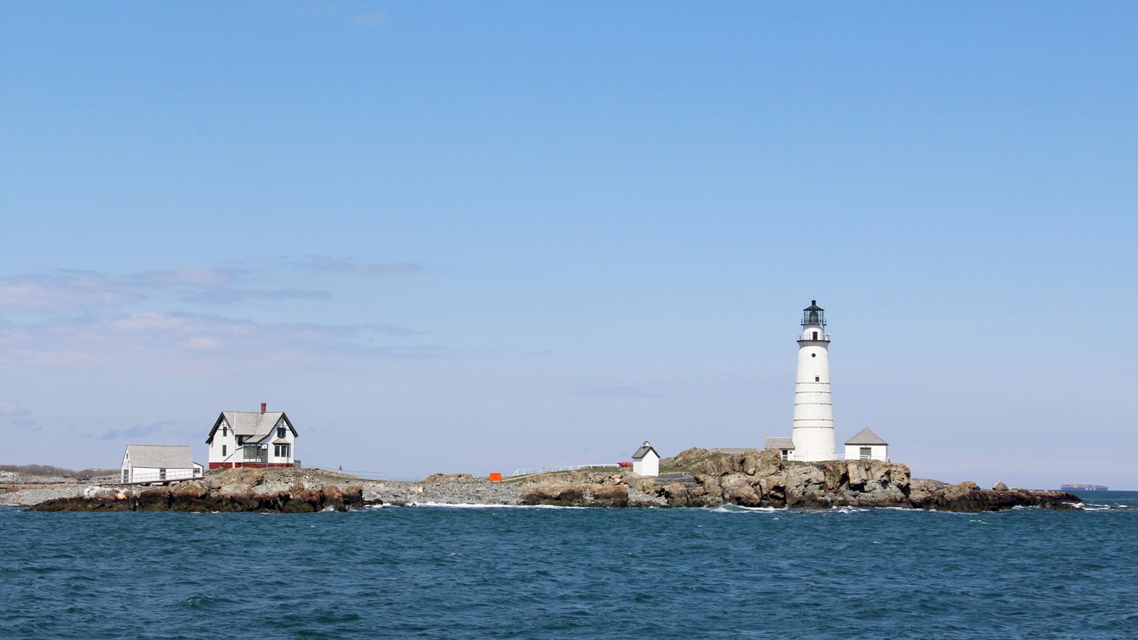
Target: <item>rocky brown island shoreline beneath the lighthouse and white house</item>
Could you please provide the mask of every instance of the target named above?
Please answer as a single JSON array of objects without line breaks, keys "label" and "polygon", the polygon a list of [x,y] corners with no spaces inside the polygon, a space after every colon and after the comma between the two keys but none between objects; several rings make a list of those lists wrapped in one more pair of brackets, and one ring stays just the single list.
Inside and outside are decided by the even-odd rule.
[{"label": "rocky brown island shoreline beneath the lighthouse and white house", "polygon": [[[365,506],[552,504],[562,507],[893,507],[996,511],[1014,507],[1074,509],[1063,491],[982,490],[975,483],[912,478],[896,462],[782,460],[776,450],[721,454],[688,449],[661,460],[665,471],[569,471],[504,483],[467,474],[436,474],[422,482],[361,481],[318,469],[226,469],[170,486],[76,487],[31,503],[36,511],[258,511],[312,512]],[[6,497],[8,498],[8,497]],[[6,500],[13,503],[13,501]],[[27,502],[18,502],[27,504]]]}]

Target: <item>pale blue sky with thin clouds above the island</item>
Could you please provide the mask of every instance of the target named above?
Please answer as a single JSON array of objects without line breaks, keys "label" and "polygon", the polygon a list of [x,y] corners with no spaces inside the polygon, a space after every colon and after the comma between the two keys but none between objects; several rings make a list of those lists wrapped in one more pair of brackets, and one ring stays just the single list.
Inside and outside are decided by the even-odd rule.
[{"label": "pale blue sky with thin clouds above the island", "polygon": [[0,462],[790,435],[1138,489],[1132,3],[5,2]]}]

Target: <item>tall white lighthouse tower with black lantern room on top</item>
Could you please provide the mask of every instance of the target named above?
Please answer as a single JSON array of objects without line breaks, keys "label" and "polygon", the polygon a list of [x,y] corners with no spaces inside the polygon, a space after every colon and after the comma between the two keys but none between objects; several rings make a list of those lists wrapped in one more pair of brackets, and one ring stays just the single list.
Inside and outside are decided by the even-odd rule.
[{"label": "tall white lighthouse tower with black lantern room on top", "polygon": [[818,301],[802,310],[794,383],[794,458],[834,459],[834,407],[830,401],[830,334]]}]

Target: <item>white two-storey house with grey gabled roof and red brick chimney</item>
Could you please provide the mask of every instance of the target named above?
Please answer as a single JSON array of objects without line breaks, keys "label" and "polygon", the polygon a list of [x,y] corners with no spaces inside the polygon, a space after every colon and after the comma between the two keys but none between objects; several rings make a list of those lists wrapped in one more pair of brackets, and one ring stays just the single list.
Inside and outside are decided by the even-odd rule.
[{"label": "white two-storey house with grey gabled roof and red brick chimney", "polygon": [[222,411],[209,429],[209,468],[298,467],[296,428],[283,411]]}]

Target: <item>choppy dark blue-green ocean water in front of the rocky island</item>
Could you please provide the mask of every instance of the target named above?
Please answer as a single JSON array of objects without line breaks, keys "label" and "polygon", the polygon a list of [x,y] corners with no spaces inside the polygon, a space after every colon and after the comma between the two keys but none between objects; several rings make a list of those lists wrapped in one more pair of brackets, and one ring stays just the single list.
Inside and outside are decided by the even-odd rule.
[{"label": "choppy dark blue-green ocean water in front of the rocky island", "polygon": [[0,508],[0,638],[1138,637],[1138,492],[1085,497],[1100,507]]}]

